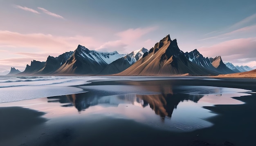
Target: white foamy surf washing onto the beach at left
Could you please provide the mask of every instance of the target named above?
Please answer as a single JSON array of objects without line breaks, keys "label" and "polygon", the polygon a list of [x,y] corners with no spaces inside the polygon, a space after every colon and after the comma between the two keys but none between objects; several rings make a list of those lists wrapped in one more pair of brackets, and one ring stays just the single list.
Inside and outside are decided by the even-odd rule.
[{"label": "white foamy surf washing onto the beach at left", "polygon": [[81,76],[2,76],[0,77],[0,103],[29,100],[40,97],[85,92],[74,87],[88,84],[90,80],[105,77]]}]

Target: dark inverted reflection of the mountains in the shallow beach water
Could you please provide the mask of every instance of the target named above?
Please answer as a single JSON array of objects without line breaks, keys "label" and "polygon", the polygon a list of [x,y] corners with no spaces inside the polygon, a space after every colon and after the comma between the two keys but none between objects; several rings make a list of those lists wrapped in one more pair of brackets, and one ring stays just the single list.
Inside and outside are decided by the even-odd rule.
[{"label": "dark inverted reflection of the mountains in the shallow beach water", "polygon": [[142,108],[149,105],[150,108],[155,111],[155,114],[164,119],[166,116],[171,117],[173,110],[177,108],[180,102],[184,100],[198,102],[198,100],[203,97],[203,95],[180,93],[180,91],[175,91],[176,89],[173,89],[171,84],[161,84],[159,81],[129,82],[129,85],[142,86],[147,91],[155,91],[161,94],[111,95],[111,93],[106,93],[106,91],[89,90],[86,93],[48,97],[48,99],[52,99],[48,102],[68,103],[62,106],[74,106],[78,111],[83,111],[95,105],[118,106],[119,104],[133,104],[141,106]]}]

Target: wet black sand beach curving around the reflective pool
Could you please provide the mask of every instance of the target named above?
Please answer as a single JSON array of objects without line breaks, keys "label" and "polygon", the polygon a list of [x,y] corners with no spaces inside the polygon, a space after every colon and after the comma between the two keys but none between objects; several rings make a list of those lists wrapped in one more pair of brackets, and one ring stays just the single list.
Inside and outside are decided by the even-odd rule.
[{"label": "wet black sand beach curving around the reflective pool", "polygon": [[[94,85],[124,84],[120,81],[94,81]],[[221,79],[221,80],[174,80],[175,85],[186,86],[220,86],[243,88],[256,91],[255,79]],[[152,128],[128,119],[115,119],[92,122],[72,121],[63,119],[57,124],[46,125],[48,119],[45,113],[22,107],[0,108],[0,145],[5,146],[192,146],[193,141],[205,141],[212,145],[225,141],[236,146],[256,145],[256,93],[251,96],[239,97],[245,102],[240,105],[216,105],[204,107],[217,113],[217,116],[207,119],[214,125],[209,128],[192,132],[170,132]],[[22,101],[29,103],[30,100]],[[40,103],[40,100],[38,100]],[[43,101],[42,101],[43,102]],[[8,103],[15,106],[17,103]],[[1,106],[1,105],[0,105]],[[45,108],[44,104],[36,105]],[[104,117],[101,117],[104,119]],[[66,121],[64,121],[66,120]],[[64,121],[64,122],[63,122]],[[113,122],[114,121],[114,122]],[[58,124],[59,122],[59,124]],[[199,145],[195,145],[199,146]]]}]

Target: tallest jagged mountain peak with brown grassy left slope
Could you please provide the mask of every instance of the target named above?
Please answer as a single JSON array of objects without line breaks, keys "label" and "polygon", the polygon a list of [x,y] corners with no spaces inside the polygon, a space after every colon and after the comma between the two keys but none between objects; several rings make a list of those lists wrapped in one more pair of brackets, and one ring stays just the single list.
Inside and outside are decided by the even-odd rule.
[{"label": "tallest jagged mountain peak with brown grassy left slope", "polygon": [[[143,57],[118,75],[209,75],[211,71],[193,64],[170,35],[160,40]],[[214,73],[212,73],[214,74]]]}]

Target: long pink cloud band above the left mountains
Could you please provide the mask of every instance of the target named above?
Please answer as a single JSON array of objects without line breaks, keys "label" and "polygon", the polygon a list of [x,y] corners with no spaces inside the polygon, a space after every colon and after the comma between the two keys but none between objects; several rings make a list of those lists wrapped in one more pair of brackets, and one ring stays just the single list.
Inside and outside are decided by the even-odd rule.
[{"label": "long pink cloud band above the left mountains", "polygon": [[[29,33],[22,34],[11,31],[0,31],[0,46],[14,46],[27,48],[27,50],[34,49],[40,52],[64,53],[66,51],[73,51],[78,44],[96,48],[97,42],[91,37],[85,36],[53,36],[51,34],[43,33]],[[50,54],[49,54],[50,55]]]}]

